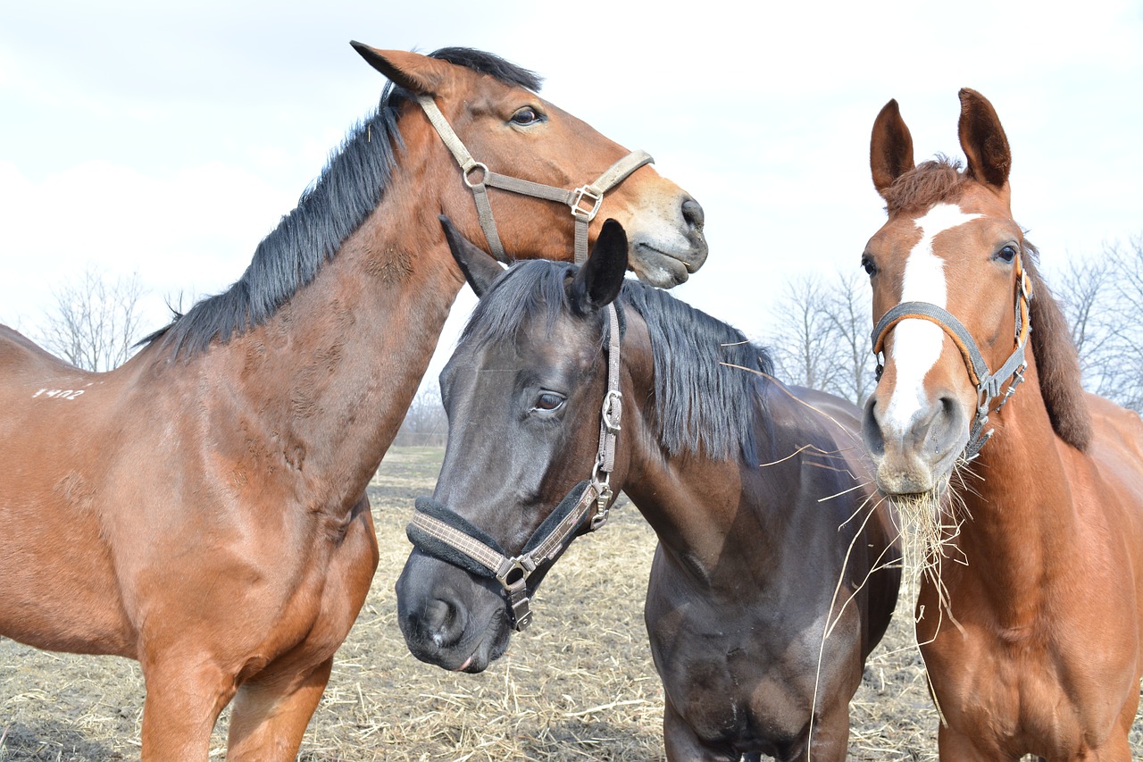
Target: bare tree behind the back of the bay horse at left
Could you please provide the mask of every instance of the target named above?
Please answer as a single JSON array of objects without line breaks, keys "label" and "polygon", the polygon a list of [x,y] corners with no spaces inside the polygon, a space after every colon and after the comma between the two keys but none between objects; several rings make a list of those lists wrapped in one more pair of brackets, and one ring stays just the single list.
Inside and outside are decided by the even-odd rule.
[{"label": "bare tree behind the back of the bay horse at left", "polygon": [[46,313],[41,335],[49,351],[87,371],[110,371],[131,356],[143,296],[137,275],[109,280],[88,267],[53,294],[55,309]]}]

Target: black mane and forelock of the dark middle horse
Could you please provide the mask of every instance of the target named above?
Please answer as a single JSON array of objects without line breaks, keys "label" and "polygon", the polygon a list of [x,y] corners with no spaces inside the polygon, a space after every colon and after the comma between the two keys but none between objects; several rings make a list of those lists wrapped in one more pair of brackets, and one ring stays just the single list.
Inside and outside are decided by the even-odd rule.
[{"label": "black mane and forelock of the dark middle horse", "polygon": [[[461,341],[477,347],[513,341],[519,326],[533,319],[543,319],[551,333],[561,316],[572,313],[565,286],[577,269],[544,260],[513,265],[477,303]],[[624,280],[617,305],[621,330],[625,308],[647,324],[655,360],[655,420],[666,452],[698,454],[701,447],[710,458],[741,454],[757,461],[754,414],[764,410],[758,384],[773,375],[769,354],[737,328],[638,280]],[[607,322],[601,313],[596,322],[605,350]]]}]

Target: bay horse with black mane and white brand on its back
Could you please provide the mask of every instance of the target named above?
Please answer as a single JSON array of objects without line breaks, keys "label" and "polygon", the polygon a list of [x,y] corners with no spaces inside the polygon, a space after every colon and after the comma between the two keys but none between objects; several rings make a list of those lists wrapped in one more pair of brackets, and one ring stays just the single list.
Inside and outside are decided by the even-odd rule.
[{"label": "bay horse with black mane and white brand on its back", "polygon": [[[626,153],[496,56],[355,47],[395,87],[229,291],[110,373],[0,327],[0,634],[138,659],[145,760],[205,760],[232,698],[229,760],[295,757],[376,569],[366,484],[464,284],[438,213],[479,236],[481,173],[570,189]],[[477,190],[507,256],[570,259],[568,207]],[[604,208],[647,277],[702,263],[652,168]]]}]

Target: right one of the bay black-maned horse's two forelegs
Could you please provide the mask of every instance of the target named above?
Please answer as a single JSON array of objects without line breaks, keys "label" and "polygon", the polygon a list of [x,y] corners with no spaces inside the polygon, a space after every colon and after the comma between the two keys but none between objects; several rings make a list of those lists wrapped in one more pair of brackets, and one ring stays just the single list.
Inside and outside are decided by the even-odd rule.
[{"label": "right one of the bay black-maned horse's two forelegs", "polygon": [[330,657],[306,673],[259,675],[243,683],[230,715],[226,759],[294,760],[333,666]]}]

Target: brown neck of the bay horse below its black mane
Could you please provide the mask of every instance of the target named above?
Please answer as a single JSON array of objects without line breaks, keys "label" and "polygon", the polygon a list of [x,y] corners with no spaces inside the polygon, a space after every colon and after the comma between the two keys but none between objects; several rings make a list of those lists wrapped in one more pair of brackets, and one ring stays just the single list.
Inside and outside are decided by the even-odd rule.
[{"label": "brown neck of the bay horse below its black mane", "polygon": [[400,190],[264,325],[191,360],[213,398],[221,379],[233,400],[211,408],[211,427],[283,460],[275,478],[301,476],[318,505],[347,508],[363,492],[463,285],[435,219],[425,233]]}]

